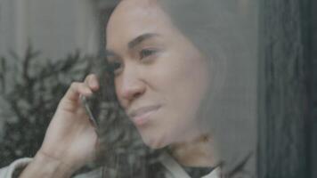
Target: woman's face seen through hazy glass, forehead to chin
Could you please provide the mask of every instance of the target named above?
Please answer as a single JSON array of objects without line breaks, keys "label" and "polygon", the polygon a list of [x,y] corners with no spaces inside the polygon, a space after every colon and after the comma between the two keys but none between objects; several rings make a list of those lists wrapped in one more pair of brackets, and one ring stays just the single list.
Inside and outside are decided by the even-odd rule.
[{"label": "woman's face seen through hazy glass, forehead to chin", "polygon": [[150,0],[123,1],[107,27],[118,101],[151,148],[198,136],[208,61]]}]

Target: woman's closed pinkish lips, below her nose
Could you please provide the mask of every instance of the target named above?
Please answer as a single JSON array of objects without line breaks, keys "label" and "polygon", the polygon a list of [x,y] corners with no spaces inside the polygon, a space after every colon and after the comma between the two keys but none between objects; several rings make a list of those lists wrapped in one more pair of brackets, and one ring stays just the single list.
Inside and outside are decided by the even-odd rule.
[{"label": "woman's closed pinkish lips, below her nose", "polygon": [[138,109],[132,109],[128,116],[132,119],[135,125],[144,125],[150,120],[150,115],[156,112],[160,105],[150,105]]}]

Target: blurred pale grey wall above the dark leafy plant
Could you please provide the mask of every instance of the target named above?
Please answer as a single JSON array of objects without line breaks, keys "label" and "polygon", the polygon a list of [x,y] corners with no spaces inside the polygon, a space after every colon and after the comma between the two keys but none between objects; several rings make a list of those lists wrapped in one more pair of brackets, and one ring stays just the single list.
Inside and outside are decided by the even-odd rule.
[{"label": "blurred pale grey wall above the dark leafy plant", "polygon": [[98,53],[115,1],[1,0],[0,5],[1,53],[12,49],[22,55],[32,44],[45,56],[59,59],[77,49]]}]

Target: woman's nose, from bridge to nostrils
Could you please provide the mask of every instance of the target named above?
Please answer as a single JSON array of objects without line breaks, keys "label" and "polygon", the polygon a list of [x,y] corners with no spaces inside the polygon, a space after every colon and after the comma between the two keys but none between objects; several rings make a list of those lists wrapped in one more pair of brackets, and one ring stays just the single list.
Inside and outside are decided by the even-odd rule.
[{"label": "woman's nose, from bridge to nostrils", "polygon": [[146,85],[136,69],[125,69],[121,77],[118,78],[116,85],[118,98],[124,107],[142,96],[146,90]]}]

